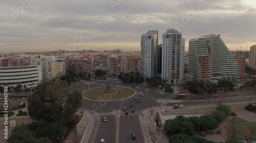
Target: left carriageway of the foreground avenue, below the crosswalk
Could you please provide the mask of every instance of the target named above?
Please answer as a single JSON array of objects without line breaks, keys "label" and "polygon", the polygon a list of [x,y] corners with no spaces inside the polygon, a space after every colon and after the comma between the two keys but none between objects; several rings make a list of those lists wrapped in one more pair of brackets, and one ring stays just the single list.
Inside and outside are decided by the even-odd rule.
[{"label": "left carriageway of the foreground avenue, below the crosswalk", "polygon": [[104,117],[106,122],[103,122],[103,116],[101,116],[94,142],[100,142],[100,139],[105,139],[105,142],[116,142],[116,116]]}]

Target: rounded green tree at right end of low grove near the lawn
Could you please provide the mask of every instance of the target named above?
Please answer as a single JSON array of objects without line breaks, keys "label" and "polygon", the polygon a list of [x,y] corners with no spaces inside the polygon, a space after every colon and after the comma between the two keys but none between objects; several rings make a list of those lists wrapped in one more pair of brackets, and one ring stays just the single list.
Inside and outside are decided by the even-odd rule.
[{"label": "rounded green tree at right end of low grove near the lawn", "polygon": [[203,119],[201,124],[201,130],[214,130],[217,129],[219,126],[219,123],[214,119],[212,116],[201,116],[200,118]]}]

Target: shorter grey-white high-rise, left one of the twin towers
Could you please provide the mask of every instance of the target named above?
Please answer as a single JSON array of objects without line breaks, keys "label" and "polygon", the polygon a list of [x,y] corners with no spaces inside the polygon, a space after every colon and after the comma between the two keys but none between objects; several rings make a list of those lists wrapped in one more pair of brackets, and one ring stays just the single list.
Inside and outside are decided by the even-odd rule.
[{"label": "shorter grey-white high-rise, left one of the twin towers", "polygon": [[151,78],[157,75],[158,31],[141,35],[141,75]]}]

